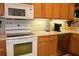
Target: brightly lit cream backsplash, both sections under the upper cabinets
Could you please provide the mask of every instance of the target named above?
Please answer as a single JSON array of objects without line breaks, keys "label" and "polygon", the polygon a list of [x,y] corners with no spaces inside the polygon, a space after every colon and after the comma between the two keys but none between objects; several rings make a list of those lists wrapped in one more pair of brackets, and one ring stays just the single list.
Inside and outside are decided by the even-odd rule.
[{"label": "brightly lit cream backsplash, both sections under the upper cabinets", "polygon": [[[49,21],[50,24],[50,30],[53,30],[54,28],[54,23],[60,23],[62,24],[61,29],[65,29],[66,28],[66,21],[67,20],[52,20]],[[29,27],[31,30],[46,30],[46,27],[48,27],[47,25],[48,20],[32,20],[29,23]]]}]

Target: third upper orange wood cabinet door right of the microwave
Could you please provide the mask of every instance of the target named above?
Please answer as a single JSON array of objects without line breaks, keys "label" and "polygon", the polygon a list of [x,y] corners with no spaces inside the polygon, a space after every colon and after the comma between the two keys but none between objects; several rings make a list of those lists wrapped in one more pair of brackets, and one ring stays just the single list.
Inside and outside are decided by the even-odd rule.
[{"label": "third upper orange wood cabinet door right of the microwave", "polygon": [[54,3],[53,4],[53,18],[60,18],[60,6],[61,4],[60,3]]}]

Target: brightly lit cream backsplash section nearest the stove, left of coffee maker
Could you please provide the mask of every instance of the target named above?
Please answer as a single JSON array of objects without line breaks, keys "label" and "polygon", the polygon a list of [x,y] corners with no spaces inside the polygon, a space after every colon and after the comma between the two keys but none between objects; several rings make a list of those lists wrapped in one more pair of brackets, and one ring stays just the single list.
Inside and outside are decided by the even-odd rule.
[{"label": "brightly lit cream backsplash section nearest the stove, left of coffee maker", "polygon": [[45,30],[46,21],[44,20],[33,20],[31,23],[31,30]]}]

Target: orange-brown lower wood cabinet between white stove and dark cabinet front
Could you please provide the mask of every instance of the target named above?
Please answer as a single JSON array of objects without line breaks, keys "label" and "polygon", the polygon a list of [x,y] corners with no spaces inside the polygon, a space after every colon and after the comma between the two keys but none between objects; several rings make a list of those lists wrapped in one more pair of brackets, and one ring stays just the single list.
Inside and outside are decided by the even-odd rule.
[{"label": "orange-brown lower wood cabinet between white stove and dark cabinet front", "polygon": [[57,37],[41,36],[38,37],[38,56],[57,55]]}]

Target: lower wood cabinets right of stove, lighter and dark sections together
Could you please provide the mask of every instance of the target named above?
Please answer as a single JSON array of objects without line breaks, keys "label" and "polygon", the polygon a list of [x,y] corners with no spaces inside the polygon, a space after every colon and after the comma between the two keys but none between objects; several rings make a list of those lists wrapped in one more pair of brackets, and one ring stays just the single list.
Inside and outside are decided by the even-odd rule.
[{"label": "lower wood cabinets right of stove, lighter and dark sections together", "polygon": [[38,56],[57,56],[67,53],[69,34],[38,37]]}]

